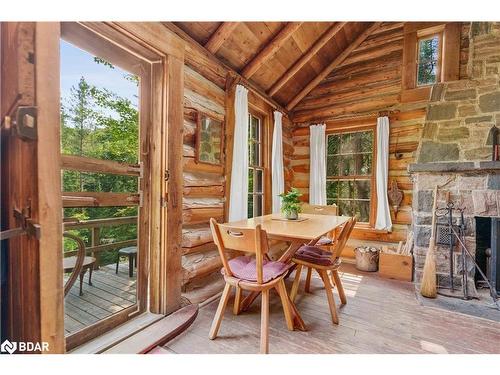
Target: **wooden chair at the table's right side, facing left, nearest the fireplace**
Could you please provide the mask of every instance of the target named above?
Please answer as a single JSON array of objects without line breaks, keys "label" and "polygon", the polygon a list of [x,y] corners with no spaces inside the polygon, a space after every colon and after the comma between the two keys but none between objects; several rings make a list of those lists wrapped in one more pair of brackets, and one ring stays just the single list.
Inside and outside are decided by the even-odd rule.
[{"label": "wooden chair at the table's right side, facing left, nearest the fireplace", "polygon": [[[302,272],[302,267],[308,267],[309,269],[314,269],[318,272],[323,284],[325,285],[326,297],[328,299],[328,305],[330,307],[330,313],[332,316],[332,322],[334,324],[339,323],[339,318],[337,314],[337,307],[335,306],[335,300],[333,298],[333,289],[335,286],[339,292],[340,301],[343,305],[347,303],[347,299],[344,292],[344,287],[340,281],[339,268],[341,265],[340,256],[342,250],[345,247],[349,236],[356,224],[356,218],[351,218],[347,223],[344,224],[342,232],[335,239],[332,251],[325,251],[317,246],[303,246],[301,247],[292,261],[297,264],[297,269],[295,271],[295,279],[292,285],[292,291],[290,292],[290,299],[295,300],[297,296],[297,291],[299,289],[300,274]],[[331,273],[331,280],[328,272]]]}]

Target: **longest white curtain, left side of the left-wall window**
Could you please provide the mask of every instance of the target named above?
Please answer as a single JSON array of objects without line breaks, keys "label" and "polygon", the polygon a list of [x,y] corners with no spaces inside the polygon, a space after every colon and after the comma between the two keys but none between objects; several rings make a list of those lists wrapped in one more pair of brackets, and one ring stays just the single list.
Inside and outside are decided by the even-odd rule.
[{"label": "longest white curtain, left side of the left-wall window", "polygon": [[248,215],[248,90],[241,85],[236,86],[234,117],[229,221]]}]

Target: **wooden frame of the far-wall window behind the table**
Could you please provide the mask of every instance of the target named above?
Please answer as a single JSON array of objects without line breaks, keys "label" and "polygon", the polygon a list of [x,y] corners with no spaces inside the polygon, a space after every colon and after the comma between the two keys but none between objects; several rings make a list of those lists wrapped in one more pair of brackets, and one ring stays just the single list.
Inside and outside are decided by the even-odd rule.
[{"label": "wooden frame of the far-wall window behind the table", "polygon": [[[354,126],[354,127],[343,127],[339,126],[337,129],[326,129],[326,134],[325,134],[325,166],[328,163],[328,136],[335,134],[349,134],[349,133],[358,133],[358,132],[364,132],[364,131],[373,131],[373,151],[372,151],[372,173],[370,176],[370,181],[371,181],[371,191],[370,191],[370,216],[369,216],[369,221],[368,222],[357,222],[355,225],[355,228],[363,228],[363,229],[373,229],[375,227],[375,219],[376,219],[376,213],[377,213],[377,173],[376,173],[376,166],[377,166],[377,126],[376,124],[365,124],[361,126]],[[342,176],[340,176],[338,179],[332,179],[326,177],[326,182],[328,183],[329,181],[334,181],[334,180],[340,180]],[[356,176],[348,176],[350,177],[349,179],[352,179],[353,181],[356,180],[357,177],[360,177],[360,179],[366,180],[365,175],[356,175]],[[345,178],[344,178],[345,179]]]}]

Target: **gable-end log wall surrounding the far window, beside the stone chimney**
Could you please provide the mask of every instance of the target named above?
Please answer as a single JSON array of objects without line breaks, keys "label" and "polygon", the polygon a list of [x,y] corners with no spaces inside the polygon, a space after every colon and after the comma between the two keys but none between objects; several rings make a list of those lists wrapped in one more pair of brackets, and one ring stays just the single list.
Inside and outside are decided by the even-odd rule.
[{"label": "gable-end log wall surrounding the far window, beside the stone chimney", "polygon": [[[309,199],[309,132],[313,123],[327,130],[375,125],[378,112],[389,111],[389,186],[394,180],[404,198],[397,215],[391,208],[393,231],[355,230],[355,240],[397,242],[404,240],[411,224],[413,184],[407,166],[414,162],[422,135],[428,98],[403,92],[403,23],[384,23],[296,107],[293,114],[294,153],[291,183]],[[467,77],[469,24],[462,26],[460,77]],[[397,157],[396,157],[396,154]]]}]

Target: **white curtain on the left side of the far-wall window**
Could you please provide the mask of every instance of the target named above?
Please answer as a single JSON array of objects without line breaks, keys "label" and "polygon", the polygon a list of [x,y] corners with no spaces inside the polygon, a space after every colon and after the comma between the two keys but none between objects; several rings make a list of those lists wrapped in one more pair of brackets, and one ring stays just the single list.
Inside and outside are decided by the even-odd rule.
[{"label": "white curtain on the left side of the far-wall window", "polygon": [[326,204],[326,135],[325,124],[311,125],[309,203]]}]

